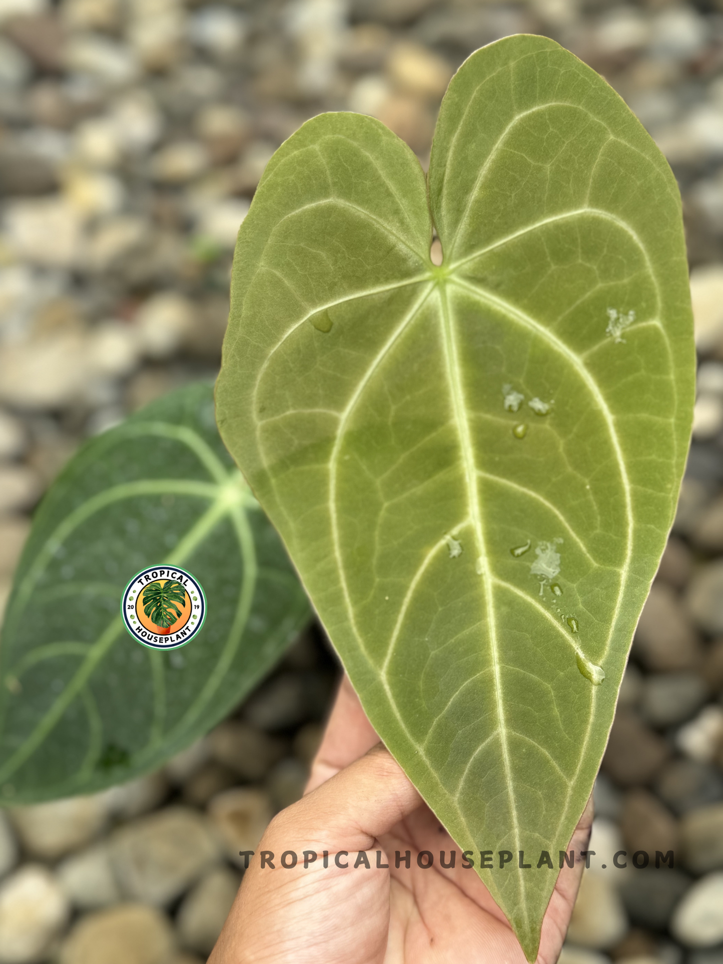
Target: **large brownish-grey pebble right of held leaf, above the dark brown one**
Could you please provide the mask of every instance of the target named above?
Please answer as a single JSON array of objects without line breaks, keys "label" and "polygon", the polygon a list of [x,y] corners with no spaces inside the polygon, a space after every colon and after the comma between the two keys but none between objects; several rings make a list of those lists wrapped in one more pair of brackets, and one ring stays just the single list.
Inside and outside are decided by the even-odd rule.
[{"label": "large brownish-grey pebble right of held leaf, above the dark brown one", "polygon": [[700,661],[700,641],[676,593],[654,582],[643,606],[633,653],[650,670],[690,669]]}]

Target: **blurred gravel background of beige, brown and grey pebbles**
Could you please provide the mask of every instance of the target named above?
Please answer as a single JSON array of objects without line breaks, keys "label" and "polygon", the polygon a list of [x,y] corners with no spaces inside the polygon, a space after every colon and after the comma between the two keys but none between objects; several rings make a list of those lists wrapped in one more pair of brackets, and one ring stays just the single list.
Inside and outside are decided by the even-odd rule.
[{"label": "blurred gravel background of beige, brown and grey pebbles", "polygon": [[[452,71],[521,31],[602,72],[668,157],[701,359],[561,960],[723,964],[723,0],[0,0],[0,604],[76,445],[215,376],[236,230],[281,141],[352,109],[425,164]],[[301,792],[336,675],[310,629],[163,772],[0,812],[0,962],[204,959],[234,853]],[[674,870],[631,866],[656,849]]]}]

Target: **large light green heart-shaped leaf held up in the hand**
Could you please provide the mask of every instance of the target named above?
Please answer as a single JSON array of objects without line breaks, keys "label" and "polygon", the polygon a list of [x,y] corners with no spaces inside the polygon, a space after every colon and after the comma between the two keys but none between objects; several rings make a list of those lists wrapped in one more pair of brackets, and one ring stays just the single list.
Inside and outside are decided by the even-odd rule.
[{"label": "large light green heart-shaped leaf held up in the hand", "polygon": [[531,870],[482,877],[530,960],[556,876],[536,863],[593,785],[693,377],[673,175],[551,40],[460,68],[428,184],[381,123],[323,115],[240,231],[222,437],[454,839],[524,850]]}]

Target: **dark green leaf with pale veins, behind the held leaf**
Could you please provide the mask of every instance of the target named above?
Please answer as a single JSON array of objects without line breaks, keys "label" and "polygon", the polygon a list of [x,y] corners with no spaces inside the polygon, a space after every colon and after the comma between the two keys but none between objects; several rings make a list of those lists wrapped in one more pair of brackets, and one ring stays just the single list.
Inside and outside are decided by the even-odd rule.
[{"label": "dark green leaf with pale veins, behind the held leaf", "polygon": [[[120,620],[139,570],[185,566],[207,618],[171,652]],[[175,618],[175,617],[174,617]],[[210,386],[88,442],[33,524],[0,646],[0,803],[100,790],[224,717],[308,618],[281,542],[233,468]]]}]

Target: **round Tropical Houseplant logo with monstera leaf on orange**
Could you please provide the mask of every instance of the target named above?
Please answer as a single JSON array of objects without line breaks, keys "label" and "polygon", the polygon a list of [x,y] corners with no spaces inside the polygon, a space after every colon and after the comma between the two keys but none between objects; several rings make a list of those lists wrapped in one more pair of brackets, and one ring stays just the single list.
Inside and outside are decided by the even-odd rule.
[{"label": "round Tropical Houseplant logo with monstera leaf on orange", "polygon": [[175,650],[190,643],[206,618],[201,583],[177,566],[149,566],[125,587],[120,603],[125,629],[142,646]]}]

